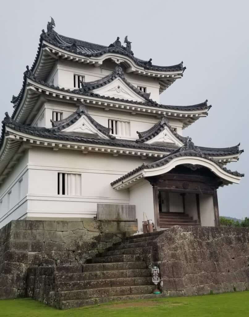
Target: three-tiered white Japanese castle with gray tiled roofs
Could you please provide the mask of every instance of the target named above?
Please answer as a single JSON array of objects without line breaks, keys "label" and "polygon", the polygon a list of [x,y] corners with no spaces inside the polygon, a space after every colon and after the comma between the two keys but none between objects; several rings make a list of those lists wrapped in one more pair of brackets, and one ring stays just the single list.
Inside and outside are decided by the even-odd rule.
[{"label": "three-tiered white Japanese castle with gray tiled roofs", "polygon": [[[14,111],[3,120],[0,227],[16,219],[144,219],[219,226],[217,189],[243,174],[225,165],[243,150],[196,146],[183,130],[207,100],[172,106],[159,96],[183,62],[157,66],[119,37],[108,46],[42,30]],[[202,120],[202,119],[201,119]],[[132,207],[132,208],[129,208]],[[113,211],[112,211],[113,210]]]}]

